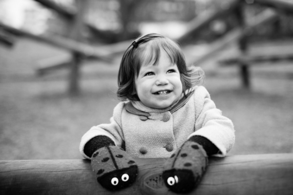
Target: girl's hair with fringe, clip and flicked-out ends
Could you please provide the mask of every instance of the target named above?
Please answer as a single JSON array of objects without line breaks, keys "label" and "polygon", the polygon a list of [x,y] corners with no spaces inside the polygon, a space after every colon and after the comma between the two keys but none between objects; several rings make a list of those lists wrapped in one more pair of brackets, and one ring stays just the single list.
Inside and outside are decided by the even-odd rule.
[{"label": "girl's hair with fringe, clip and flicked-out ends", "polygon": [[147,34],[134,40],[122,57],[117,91],[120,100],[139,100],[135,91],[135,78],[138,77],[142,65],[159,63],[162,49],[172,64],[178,67],[183,92],[203,82],[204,71],[200,67],[188,67],[181,48],[174,41],[159,34]]}]

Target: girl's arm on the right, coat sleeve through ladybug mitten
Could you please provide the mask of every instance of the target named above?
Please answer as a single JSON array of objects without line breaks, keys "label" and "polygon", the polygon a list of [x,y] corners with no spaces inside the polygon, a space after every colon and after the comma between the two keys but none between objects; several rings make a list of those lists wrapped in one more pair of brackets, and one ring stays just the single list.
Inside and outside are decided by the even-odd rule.
[{"label": "girl's arm on the right, coat sleeve through ladybug mitten", "polygon": [[162,177],[175,193],[188,193],[200,182],[208,166],[208,156],[225,156],[234,143],[231,120],[223,117],[206,88],[194,90],[195,132],[166,161]]}]

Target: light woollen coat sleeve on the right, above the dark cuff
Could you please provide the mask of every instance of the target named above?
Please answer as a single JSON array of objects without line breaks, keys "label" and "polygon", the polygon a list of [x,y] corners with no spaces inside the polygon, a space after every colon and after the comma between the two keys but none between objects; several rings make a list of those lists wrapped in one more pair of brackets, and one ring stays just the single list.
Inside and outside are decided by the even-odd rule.
[{"label": "light woollen coat sleeve on the right, above the dark cuff", "polygon": [[199,86],[194,91],[195,105],[195,132],[192,136],[202,136],[209,139],[220,151],[214,156],[226,156],[235,141],[234,126],[232,121],[222,116],[210,99],[205,87]]}]

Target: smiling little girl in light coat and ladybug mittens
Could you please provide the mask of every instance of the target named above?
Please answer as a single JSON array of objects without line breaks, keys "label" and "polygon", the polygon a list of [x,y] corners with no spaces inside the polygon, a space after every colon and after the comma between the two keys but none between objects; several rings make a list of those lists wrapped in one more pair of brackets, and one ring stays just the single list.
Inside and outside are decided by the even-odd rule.
[{"label": "smiling little girl in light coat and ladybug mittens", "polygon": [[110,123],[92,127],[80,144],[102,186],[118,190],[131,185],[137,175],[133,158],[170,157],[163,172],[167,187],[189,192],[205,173],[207,157],[230,151],[233,124],[199,86],[203,78],[201,68],[187,67],[172,40],[148,34],[132,42],[119,69],[122,101]]}]

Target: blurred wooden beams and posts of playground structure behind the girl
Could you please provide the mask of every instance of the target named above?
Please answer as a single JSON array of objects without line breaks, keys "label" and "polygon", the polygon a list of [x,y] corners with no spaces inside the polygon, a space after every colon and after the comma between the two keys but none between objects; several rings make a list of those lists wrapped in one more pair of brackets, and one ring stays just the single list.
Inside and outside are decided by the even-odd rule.
[{"label": "blurred wooden beams and posts of playground structure behind the girl", "polygon": [[[42,5],[58,12],[70,24],[70,32],[67,38],[59,36],[39,36],[30,32],[15,29],[13,27],[0,23],[2,31],[0,31],[0,42],[12,46],[14,36],[26,36],[31,39],[39,40],[65,50],[68,50],[72,55],[71,59],[54,57],[53,59],[44,59],[40,62],[40,67],[37,69],[39,75],[43,75],[47,70],[68,67],[71,70],[69,77],[69,93],[71,95],[79,93],[79,72],[81,59],[96,58],[109,61],[113,55],[122,53],[129,45],[129,41],[122,41],[113,44],[94,47],[83,42],[81,33],[84,26],[95,29],[91,24],[84,22],[84,11],[87,8],[88,0],[83,3],[77,0],[76,10],[61,7],[51,0],[36,0]],[[275,51],[273,57],[266,57],[265,53],[253,55],[249,52],[248,39],[249,35],[259,25],[269,24],[278,20],[278,12],[293,12],[293,2],[290,0],[227,0],[224,8],[216,10],[208,10],[202,15],[199,15],[194,20],[188,22],[188,30],[184,35],[177,39],[178,42],[183,42],[184,39],[192,37],[195,33],[201,31],[215,19],[225,18],[229,15],[234,15],[237,18],[239,26],[227,32],[223,37],[209,44],[209,50],[200,58],[194,59],[192,64],[200,65],[204,60],[209,59],[212,55],[229,46],[231,43],[238,42],[239,56],[221,60],[220,64],[230,65],[237,64],[241,72],[243,86],[250,87],[250,71],[249,65],[254,61],[276,60],[276,59],[293,59],[293,52],[289,51],[284,55],[282,51]],[[245,22],[243,14],[244,4],[260,4],[267,8],[262,13],[258,14],[254,20]],[[95,29],[98,31],[97,29]]]}]

